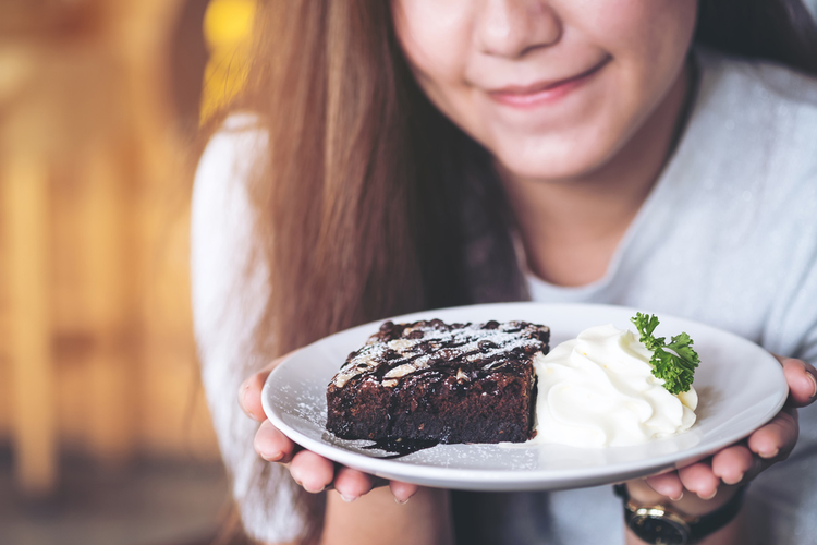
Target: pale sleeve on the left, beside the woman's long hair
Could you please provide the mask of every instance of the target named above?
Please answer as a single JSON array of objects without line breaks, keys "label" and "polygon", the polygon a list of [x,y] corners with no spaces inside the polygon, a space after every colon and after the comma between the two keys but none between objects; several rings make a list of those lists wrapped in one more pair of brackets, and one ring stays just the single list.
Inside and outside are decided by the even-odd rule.
[{"label": "pale sleeve on the left, beside the woman's long hair", "polygon": [[259,156],[257,148],[266,145],[266,136],[247,129],[251,120],[229,118],[196,171],[191,217],[193,318],[202,380],[244,528],[256,540],[276,543],[294,541],[306,521],[295,509],[300,493],[289,472],[255,453],[257,424],[236,401],[244,378],[266,363],[254,360],[251,344],[269,288],[266,267],[253,262],[246,189],[251,159]]}]

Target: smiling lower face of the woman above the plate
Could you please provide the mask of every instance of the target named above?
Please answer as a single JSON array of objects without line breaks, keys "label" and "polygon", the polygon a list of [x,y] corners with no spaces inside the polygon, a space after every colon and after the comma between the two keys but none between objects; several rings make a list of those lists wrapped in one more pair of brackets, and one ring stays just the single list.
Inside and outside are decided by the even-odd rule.
[{"label": "smiling lower face of the woman above the plate", "polygon": [[565,179],[622,149],[679,81],[696,0],[392,0],[431,101],[510,172]]}]

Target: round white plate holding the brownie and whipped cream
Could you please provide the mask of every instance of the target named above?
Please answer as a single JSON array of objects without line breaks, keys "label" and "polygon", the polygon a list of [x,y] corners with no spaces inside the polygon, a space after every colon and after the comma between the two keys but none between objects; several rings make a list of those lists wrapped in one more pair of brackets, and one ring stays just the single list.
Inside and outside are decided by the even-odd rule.
[{"label": "round white plate holding the brownie and whipped cream", "polygon": [[[444,322],[520,319],[550,327],[550,346],[588,327],[635,329],[635,310],[621,306],[505,303],[461,306],[392,318]],[[656,334],[686,331],[700,354],[695,389],[697,422],[686,433],[635,447],[582,449],[560,445],[438,445],[398,459],[364,450],[366,440],[344,440],[326,431],[326,387],[346,355],[377,331],[377,322],[342,331],[298,350],[270,374],[263,391],[269,420],[292,440],[338,463],[426,486],[470,491],[578,488],[650,475],[687,465],[735,443],[768,422],[783,405],[788,387],[777,360],[733,334],[659,315]]]}]

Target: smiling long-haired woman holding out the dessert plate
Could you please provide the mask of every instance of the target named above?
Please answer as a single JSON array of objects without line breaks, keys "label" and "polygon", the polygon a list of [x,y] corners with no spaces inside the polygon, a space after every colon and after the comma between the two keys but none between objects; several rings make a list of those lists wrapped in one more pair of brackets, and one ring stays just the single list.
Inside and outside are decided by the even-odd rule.
[{"label": "smiling long-haired woman holding out the dessert plate", "polygon": [[[256,427],[228,390],[355,324],[466,303],[605,302],[817,358],[817,84],[802,74],[817,73],[817,33],[798,1],[264,8],[255,114],[229,118],[211,140],[193,207],[203,376],[259,541],[639,543],[611,487],[496,495],[391,483],[398,504],[414,495],[398,505],[265,421],[271,366],[240,391],[264,421],[255,449],[275,463],[260,460]],[[735,498],[789,456],[794,408],[817,390],[814,367],[781,363],[790,401],[770,424],[625,494],[714,513],[699,543],[749,542]],[[792,460],[746,495],[758,543],[809,531],[798,513],[817,507],[817,425],[804,414]]]}]

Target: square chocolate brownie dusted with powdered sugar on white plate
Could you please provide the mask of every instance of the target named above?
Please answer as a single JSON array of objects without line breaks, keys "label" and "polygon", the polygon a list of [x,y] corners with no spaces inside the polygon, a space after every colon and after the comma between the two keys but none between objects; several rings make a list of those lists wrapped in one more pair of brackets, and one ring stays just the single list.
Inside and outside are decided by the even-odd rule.
[{"label": "square chocolate brownie dusted with powdered sugar on white plate", "polygon": [[327,388],[345,439],[521,443],[533,436],[533,359],[550,329],[525,322],[386,322]]}]

